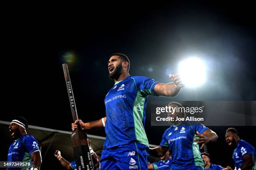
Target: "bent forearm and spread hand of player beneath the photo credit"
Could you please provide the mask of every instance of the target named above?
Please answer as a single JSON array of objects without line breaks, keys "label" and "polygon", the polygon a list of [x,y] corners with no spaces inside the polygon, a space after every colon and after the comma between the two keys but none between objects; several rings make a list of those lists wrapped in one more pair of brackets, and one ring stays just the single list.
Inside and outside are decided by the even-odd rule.
[{"label": "bent forearm and spread hand of player beneath the photo credit", "polygon": [[218,140],[218,135],[210,129],[205,130],[204,133],[197,132],[195,136],[199,137],[195,139],[195,141],[198,141],[197,144],[202,143],[201,149],[204,148],[205,144]]}]

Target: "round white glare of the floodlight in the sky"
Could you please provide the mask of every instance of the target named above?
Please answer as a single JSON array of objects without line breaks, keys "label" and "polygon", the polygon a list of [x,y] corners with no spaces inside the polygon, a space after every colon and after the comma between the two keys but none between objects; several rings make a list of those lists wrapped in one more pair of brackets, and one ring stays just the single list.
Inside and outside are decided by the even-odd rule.
[{"label": "round white glare of the floodlight in the sky", "polygon": [[202,85],[205,80],[205,64],[192,57],[179,63],[179,74],[186,87]]}]

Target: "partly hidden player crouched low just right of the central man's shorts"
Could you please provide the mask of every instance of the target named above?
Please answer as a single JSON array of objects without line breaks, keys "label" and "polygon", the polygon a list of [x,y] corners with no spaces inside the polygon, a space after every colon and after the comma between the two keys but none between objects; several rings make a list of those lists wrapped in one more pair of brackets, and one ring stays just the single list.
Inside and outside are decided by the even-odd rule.
[{"label": "partly hidden player crouched low just right of the central man's shorts", "polygon": [[148,163],[148,170],[169,170],[171,168],[172,158],[170,157],[169,150],[161,157],[156,163]]}]

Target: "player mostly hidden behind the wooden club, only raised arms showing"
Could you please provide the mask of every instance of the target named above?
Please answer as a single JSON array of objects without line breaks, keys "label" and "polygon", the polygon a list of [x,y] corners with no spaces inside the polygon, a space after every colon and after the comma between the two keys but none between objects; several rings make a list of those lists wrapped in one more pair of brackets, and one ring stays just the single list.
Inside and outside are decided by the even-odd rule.
[{"label": "player mostly hidden behind the wooden club, only raised arms showing", "polygon": [[[99,161],[100,161],[100,155],[97,155],[91,148],[91,140],[88,140],[88,144],[89,144],[89,148],[90,148],[90,154],[92,156],[92,162],[94,165],[94,169],[96,170],[97,168],[99,168]],[[59,162],[61,163],[61,165],[66,168],[67,170],[77,170],[77,164],[76,161],[73,160],[71,163],[69,163],[69,161],[65,160],[62,156],[61,156],[61,152],[59,150],[56,150],[54,153],[54,156],[59,160]]]}]

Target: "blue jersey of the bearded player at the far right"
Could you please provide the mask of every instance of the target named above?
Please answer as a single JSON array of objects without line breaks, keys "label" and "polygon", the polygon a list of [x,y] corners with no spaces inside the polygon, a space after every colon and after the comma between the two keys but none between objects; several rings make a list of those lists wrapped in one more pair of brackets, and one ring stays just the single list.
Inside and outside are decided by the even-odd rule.
[{"label": "blue jersey of the bearded player at the far right", "polygon": [[[254,155],[254,160],[256,158],[256,152],[254,147],[249,144],[248,142],[244,141],[244,140],[239,140],[236,149],[233,152],[233,160],[235,161],[235,167],[236,169],[241,168],[241,166],[243,165],[243,155]],[[256,169],[256,160],[254,162],[254,166],[251,170],[255,170]]]}]

